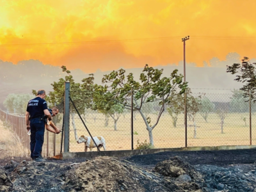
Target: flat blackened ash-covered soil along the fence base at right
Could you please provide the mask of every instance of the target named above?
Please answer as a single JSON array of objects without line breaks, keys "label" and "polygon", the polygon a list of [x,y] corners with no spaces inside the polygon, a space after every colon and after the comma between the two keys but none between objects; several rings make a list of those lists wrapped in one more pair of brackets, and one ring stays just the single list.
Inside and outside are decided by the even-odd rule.
[{"label": "flat blackened ash-covered soil along the fence base at right", "polygon": [[203,176],[196,180],[205,191],[256,191],[256,150],[161,152],[124,158],[147,170],[174,156],[193,166]]}]

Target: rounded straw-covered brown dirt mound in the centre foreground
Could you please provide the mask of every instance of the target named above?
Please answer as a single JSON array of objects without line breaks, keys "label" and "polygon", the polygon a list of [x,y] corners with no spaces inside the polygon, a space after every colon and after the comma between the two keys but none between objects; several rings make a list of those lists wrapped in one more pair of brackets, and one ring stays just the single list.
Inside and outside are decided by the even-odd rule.
[{"label": "rounded straw-covered brown dirt mound in the centre foreground", "polygon": [[[113,157],[97,157],[66,174],[67,191],[145,191],[136,173]],[[76,189],[76,190],[74,190]]]}]

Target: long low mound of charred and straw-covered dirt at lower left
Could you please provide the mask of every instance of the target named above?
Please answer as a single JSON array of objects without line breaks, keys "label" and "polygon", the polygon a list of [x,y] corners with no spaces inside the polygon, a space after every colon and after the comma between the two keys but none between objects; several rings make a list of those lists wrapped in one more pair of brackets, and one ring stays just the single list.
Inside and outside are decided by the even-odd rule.
[{"label": "long low mound of charred and straw-covered dirt at lower left", "polygon": [[0,170],[1,192],[145,191],[135,179],[136,173],[113,157],[83,163],[10,161],[3,168],[6,172]]}]

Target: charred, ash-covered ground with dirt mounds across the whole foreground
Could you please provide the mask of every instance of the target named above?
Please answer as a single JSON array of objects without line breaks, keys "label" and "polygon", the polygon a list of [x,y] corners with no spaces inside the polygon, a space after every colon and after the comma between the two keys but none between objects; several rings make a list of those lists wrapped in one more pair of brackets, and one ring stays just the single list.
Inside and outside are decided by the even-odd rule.
[{"label": "charred, ash-covered ground with dirt mounds across the whole foreground", "polygon": [[[13,166],[10,161],[17,164]],[[160,152],[47,163],[5,158],[0,159],[0,191],[1,182],[6,191],[256,191],[255,162],[255,149]],[[170,167],[175,170],[169,174],[166,170]],[[184,174],[190,180],[180,181],[178,176]]]}]

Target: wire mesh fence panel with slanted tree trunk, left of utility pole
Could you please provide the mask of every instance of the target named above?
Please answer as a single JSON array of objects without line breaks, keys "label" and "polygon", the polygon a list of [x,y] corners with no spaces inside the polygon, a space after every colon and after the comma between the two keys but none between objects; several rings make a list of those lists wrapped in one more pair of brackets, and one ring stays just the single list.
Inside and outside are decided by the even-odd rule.
[{"label": "wire mesh fence panel with slanted tree trunk, left of utility pole", "polygon": [[[144,146],[146,143],[154,144],[154,148],[184,147],[184,119],[180,118],[173,122],[172,116],[167,111],[159,117],[159,104],[153,102],[148,105],[150,105],[150,108],[145,106],[145,109],[142,107],[141,110],[147,120],[143,119],[139,111],[134,111],[134,148],[143,148],[143,143]],[[158,118],[159,122],[157,123]],[[147,129],[147,124],[150,127],[157,124],[152,130],[152,136],[150,136],[150,131]]]}]

